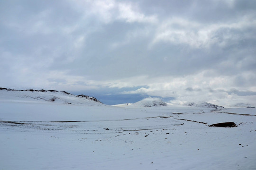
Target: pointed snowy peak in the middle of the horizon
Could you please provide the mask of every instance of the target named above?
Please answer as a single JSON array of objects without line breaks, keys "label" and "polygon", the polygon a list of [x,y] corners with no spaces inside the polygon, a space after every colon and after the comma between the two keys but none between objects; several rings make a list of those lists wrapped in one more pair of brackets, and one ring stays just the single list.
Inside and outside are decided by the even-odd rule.
[{"label": "pointed snowy peak in the middle of the horizon", "polygon": [[144,106],[144,107],[152,107],[152,106],[167,106],[167,103],[163,102],[160,98],[152,98],[148,97],[139,102],[133,103],[135,106]]}]

